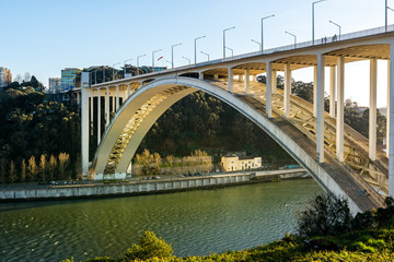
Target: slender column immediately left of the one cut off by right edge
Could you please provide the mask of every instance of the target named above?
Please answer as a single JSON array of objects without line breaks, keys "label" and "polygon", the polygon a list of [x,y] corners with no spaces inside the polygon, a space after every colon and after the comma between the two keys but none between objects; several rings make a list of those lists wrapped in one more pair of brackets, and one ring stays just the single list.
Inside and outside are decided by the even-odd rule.
[{"label": "slender column immediately left of the one cut off by right edge", "polygon": [[369,157],[376,159],[376,59],[370,59]]}]

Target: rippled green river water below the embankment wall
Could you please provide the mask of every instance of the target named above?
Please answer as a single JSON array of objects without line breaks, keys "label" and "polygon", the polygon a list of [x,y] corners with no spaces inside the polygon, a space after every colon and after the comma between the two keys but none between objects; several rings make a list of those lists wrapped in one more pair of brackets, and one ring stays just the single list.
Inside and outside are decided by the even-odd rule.
[{"label": "rippled green river water below the embankment wall", "polygon": [[143,230],[176,255],[241,250],[292,231],[312,179],[100,200],[0,204],[0,261],[119,257]]}]

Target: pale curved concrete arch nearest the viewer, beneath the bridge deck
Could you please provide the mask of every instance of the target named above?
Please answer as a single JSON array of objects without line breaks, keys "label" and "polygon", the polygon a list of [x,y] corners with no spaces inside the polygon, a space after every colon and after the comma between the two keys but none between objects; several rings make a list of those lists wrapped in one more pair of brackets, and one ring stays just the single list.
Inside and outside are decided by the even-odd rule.
[{"label": "pale curved concrete arch nearest the viewer, beneath the bridge deck", "polygon": [[[306,152],[299,144],[300,138],[288,135],[280,126],[276,124],[269,118],[265,117],[260,109],[253,108],[250,104],[236,97],[229,92],[210,84],[208,81],[190,79],[190,78],[164,78],[150,82],[149,84],[138,88],[119,108],[109,127],[103,135],[103,140],[96,151],[92,169],[99,176],[103,174],[126,172],[127,167],[134,157],[143,136],[150,130],[157,119],[173,104],[183,97],[196,91],[204,91],[220,100],[229,104],[234,109],[242,112],[245,117],[255,122],[266,133],[268,133],[279,145],[281,145],[300,165],[305,167],[315,180],[326,190],[337,194],[341,194],[348,199],[351,211],[357,213],[364,210],[347,194],[345,190],[328,174],[325,164],[315,160],[315,155]],[[159,97],[158,103],[152,97]],[[155,105],[153,105],[155,103]],[[149,106],[153,105],[151,108]],[[143,110],[141,110],[143,108]],[[140,118],[136,118],[132,122],[135,127],[127,127],[130,119],[139,112],[146,112]],[[138,122],[139,121],[139,122]],[[131,126],[132,126],[131,124]],[[125,135],[125,129],[134,129],[131,135]],[[301,136],[303,136],[301,134]],[[123,147],[118,141],[125,141]],[[118,146],[119,145],[119,146]],[[117,147],[118,146],[118,147]],[[112,155],[113,152],[121,150],[119,154]],[[115,165],[113,165],[115,164]],[[113,165],[113,172],[107,172],[107,166]]]}]

